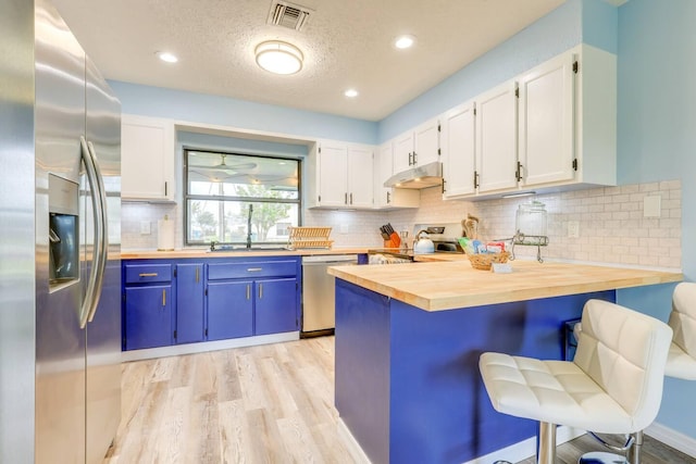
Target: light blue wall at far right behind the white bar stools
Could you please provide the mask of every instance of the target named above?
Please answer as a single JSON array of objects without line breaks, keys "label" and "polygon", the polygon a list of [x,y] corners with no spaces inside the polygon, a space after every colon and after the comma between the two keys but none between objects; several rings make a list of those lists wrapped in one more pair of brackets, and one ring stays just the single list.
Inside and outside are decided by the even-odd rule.
[{"label": "light blue wall at far right behind the white bar stools", "polygon": [[[682,266],[696,278],[696,2],[631,0],[619,8],[620,184],[682,181]],[[621,304],[662,319],[671,286],[622,290]],[[666,379],[657,422],[696,438],[696,383]]]}]

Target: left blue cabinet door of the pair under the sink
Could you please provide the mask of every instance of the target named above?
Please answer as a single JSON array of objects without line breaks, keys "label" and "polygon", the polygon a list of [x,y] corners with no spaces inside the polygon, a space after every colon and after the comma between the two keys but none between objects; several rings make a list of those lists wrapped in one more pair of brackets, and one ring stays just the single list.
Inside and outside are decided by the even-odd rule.
[{"label": "left blue cabinet door of the pair under the sink", "polygon": [[253,283],[208,283],[208,340],[253,335]]}]

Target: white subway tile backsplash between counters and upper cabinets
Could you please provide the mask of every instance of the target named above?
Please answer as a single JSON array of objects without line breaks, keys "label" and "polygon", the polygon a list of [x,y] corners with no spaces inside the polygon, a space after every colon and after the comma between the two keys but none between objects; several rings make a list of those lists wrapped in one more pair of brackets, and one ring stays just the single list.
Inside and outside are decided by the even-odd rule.
[{"label": "white subway tile backsplash between counters and upper cabinets", "polygon": [[[660,217],[643,217],[647,195],[659,195]],[[534,197],[546,204],[548,247],[543,258],[681,268],[682,188],[680,180],[599,187]],[[473,214],[481,220],[483,239],[511,238],[519,204],[529,198],[477,202],[444,201],[439,187],[421,190],[421,208],[398,211],[306,210],[306,226],[333,227],[334,247],[382,247],[378,227],[387,222],[396,230],[412,231],[415,224],[459,223]],[[158,221],[169,215],[176,224],[176,248],[183,246],[183,216],[178,204],[123,203],[122,248],[157,249]],[[576,221],[580,237],[568,238],[568,222]],[[140,234],[142,222],[151,233]],[[515,255],[535,258],[536,247],[514,249]]]}]

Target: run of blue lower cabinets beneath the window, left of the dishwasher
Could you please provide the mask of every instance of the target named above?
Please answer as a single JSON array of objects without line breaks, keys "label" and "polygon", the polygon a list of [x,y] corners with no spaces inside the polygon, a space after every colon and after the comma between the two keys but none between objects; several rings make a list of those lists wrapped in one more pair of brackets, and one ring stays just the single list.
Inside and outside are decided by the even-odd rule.
[{"label": "run of blue lower cabinets beneath the window, left of the dishwasher", "polygon": [[122,261],[123,349],[299,330],[299,256]]}]

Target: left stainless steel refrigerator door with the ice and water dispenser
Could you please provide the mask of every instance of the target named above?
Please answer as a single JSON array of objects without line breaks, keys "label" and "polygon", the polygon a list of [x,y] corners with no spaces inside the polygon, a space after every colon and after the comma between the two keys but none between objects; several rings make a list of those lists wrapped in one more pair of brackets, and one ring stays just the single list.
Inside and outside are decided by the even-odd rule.
[{"label": "left stainless steel refrigerator door with the ice and water dispenser", "polygon": [[[78,318],[82,277],[65,284],[49,283],[48,179],[53,174],[79,184],[79,137],[85,131],[85,53],[58,12],[41,0],[36,2],[35,29],[35,462],[55,463],[60,456],[60,462],[82,463],[85,461],[85,333]],[[83,266],[80,262],[80,272]]]}]

